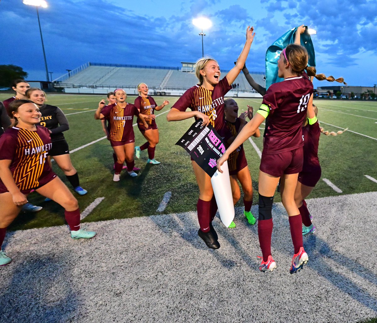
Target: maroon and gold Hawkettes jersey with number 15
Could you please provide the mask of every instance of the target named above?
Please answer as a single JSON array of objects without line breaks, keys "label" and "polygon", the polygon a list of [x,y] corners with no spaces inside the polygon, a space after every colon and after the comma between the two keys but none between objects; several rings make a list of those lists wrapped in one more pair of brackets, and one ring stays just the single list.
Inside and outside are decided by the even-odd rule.
[{"label": "maroon and gold Hawkettes jersey with number 15", "polygon": [[[21,191],[40,186],[41,179],[54,174],[47,162],[51,147],[50,133],[43,126],[37,131],[12,127],[0,137],[0,159],[12,161],[9,169]],[[0,189],[7,191],[1,180]]]}]

